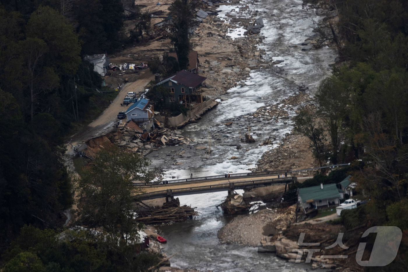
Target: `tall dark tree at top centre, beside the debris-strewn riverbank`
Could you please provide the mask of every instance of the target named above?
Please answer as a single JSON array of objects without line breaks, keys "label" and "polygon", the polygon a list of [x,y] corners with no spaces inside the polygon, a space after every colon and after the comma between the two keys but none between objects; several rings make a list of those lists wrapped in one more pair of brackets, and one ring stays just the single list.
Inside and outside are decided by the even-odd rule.
[{"label": "tall dark tree at top centre, beside the debris-strewn riverbank", "polygon": [[171,42],[182,70],[188,67],[188,53],[191,51],[188,33],[197,26],[196,6],[197,2],[193,0],[175,0],[169,7],[169,14],[173,19]]}]

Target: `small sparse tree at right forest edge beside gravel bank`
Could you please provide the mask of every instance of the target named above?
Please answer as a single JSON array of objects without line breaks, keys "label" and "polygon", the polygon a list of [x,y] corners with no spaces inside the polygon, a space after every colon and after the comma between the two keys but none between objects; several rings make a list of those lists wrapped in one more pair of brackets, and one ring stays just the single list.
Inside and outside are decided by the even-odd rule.
[{"label": "small sparse tree at right forest edge beside gravel bank", "polygon": [[310,140],[309,148],[319,161],[319,165],[322,166],[328,155],[325,146],[326,137],[322,124],[318,122],[314,113],[307,109],[302,109],[299,114],[296,115],[294,121],[295,126],[293,130],[295,133],[305,136]]}]

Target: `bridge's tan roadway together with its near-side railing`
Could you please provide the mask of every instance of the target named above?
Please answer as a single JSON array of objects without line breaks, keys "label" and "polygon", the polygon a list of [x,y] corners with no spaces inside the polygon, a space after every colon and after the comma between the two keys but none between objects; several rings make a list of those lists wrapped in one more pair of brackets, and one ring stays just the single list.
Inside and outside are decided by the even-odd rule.
[{"label": "bridge's tan roadway together with its near-side railing", "polygon": [[283,178],[272,178],[272,179],[258,179],[258,180],[244,180],[244,181],[209,181],[200,184],[201,186],[191,187],[189,184],[171,184],[159,186],[163,190],[157,190],[158,188],[143,188],[146,191],[144,194],[135,195],[135,200],[146,200],[166,197],[166,201],[169,199],[180,196],[180,195],[194,195],[202,194],[207,192],[222,192],[227,191],[228,195],[233,194],[234,190],[237,189],[249,189],[256,187],[264,187],[271,185],[282,185],[285,184],[285,191],[287,184],[297,182],[297,177],[283,177]]}]

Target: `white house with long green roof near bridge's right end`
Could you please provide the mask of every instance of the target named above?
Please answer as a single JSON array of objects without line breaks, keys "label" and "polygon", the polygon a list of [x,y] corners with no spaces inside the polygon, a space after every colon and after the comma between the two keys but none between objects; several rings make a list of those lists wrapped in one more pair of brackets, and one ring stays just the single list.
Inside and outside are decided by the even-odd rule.
[{"label": "white house with long green roof near bridge's right end", "polygon": [[299,188],[298,190],[298,200],[305,213],[306,210],[321,206],[337,206],[340,198],[336,184],[320,184],[320,186]]}]

